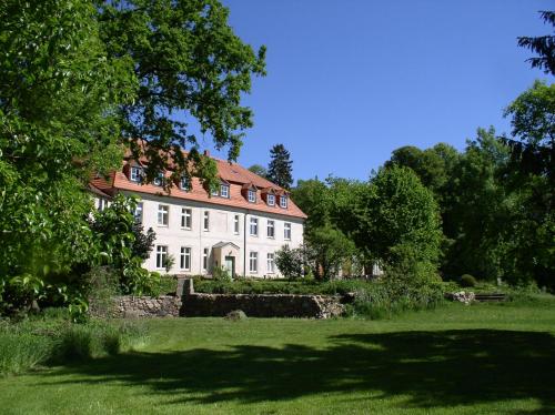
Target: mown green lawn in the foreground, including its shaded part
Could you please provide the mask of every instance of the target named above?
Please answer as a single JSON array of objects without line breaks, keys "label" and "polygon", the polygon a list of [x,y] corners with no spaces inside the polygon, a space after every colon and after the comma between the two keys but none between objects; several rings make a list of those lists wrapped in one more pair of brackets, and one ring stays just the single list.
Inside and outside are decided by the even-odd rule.
[{"label": "mown green lawn in the foreground, including its shaded part", "polygon": [[554,302],[145,324],[132,353],[0,378],[1,413],[555,413]]}]

